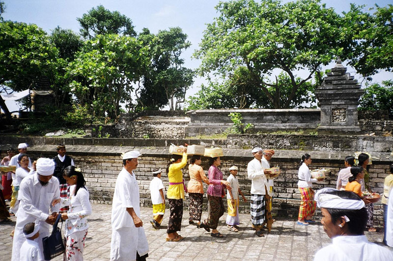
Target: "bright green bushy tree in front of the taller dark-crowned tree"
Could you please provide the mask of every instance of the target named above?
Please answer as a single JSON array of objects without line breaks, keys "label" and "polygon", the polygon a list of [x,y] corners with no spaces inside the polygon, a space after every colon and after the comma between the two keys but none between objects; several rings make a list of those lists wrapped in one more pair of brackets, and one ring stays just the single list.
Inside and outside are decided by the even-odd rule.
[{"label": "bright green bushy tree in front of the taller dark-crowned tree", "polygon": [[96,35],[85,43],[67,68],[71,91],[96,117],[120,114],[120,103],[131,106],[134,83],[148,63],[147,47],[134,37]]}]

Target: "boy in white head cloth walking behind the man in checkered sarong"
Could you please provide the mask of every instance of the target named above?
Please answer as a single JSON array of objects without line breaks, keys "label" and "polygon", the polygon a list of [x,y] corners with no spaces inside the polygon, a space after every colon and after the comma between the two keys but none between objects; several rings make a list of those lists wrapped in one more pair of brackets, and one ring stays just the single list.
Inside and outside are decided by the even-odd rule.
[{"label": "boy in white head cloth walking behind the man in checkered sarong", "polygon": [[239,188],[239,181],[237,179],[238,168],[236,165],[232,165],[229,168],[230,175],[226,179],[231,186],[231,190],[227,190],[226,199],[228,204],[228,215],[226,216],[226,224],[228,230],[232,232],[239,232],[238,225],[240,225],[239,219],[239,194],[242,195],[243,201],[247,202],[243,192]]}]

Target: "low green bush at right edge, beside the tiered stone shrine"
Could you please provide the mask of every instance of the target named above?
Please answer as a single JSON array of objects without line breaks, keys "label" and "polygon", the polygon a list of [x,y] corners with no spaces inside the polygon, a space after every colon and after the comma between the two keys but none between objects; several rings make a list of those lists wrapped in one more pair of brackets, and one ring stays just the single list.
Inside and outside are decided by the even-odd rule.
[{"label": "low green bush at right edge, beside the tiered stone shrine", "polygon": [[360,99],[360,110],[388,110],[393,116],[393,81],[383,81],[365,87],[365,93]]}]

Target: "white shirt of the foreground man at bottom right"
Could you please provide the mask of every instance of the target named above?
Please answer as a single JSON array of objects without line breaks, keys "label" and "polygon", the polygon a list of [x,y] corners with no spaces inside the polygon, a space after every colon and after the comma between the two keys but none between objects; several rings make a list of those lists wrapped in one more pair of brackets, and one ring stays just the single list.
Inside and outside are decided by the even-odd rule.
[{"label": "white shirt of the foreground man at bottom right", "polygon": [[332,244],[316,252],[314,261],[390,261],[393,252],[368,242],[365,235],[336,236]]}]

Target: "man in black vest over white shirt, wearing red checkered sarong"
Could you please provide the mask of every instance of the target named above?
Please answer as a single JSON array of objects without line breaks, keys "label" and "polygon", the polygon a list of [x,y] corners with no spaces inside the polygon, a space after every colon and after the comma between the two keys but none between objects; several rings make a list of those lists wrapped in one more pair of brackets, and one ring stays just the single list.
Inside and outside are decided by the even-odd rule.
[{"label": "man in black vest over white shirt, wearing red checkered sarong", "polygon": [[[74,160],[70,156],[65,155],[65,145],[57,145],[56,151],[58,154],[52,159],[53,162],[55,162],[55,171],[53,175],[58,179],[59,182],[60,198],[66,199],[68,196],[70,196],[70,186],[63,178],[63,171],[68,166],[75,166]],[[68,206],[64,206],[60,208],[60,213],[67,212],[67,210]]]}]

